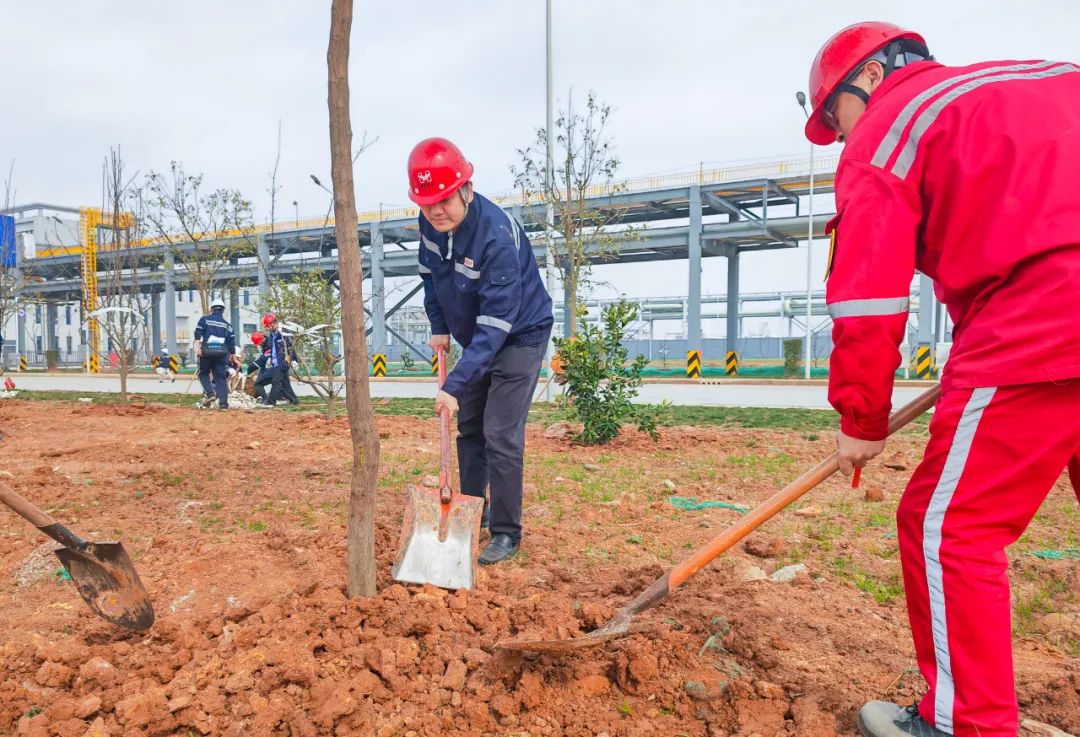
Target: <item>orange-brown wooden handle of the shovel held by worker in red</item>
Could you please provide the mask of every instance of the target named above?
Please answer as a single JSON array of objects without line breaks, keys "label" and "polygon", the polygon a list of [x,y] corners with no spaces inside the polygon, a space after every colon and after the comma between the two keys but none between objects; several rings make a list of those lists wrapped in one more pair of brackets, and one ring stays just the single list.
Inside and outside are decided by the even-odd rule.
[{"label": "orange-brown wooden handle of the shovel held by worker in red", "polygon": [[[934,385],[914,400],[905,404],[889,417],[889,434],[896,432],[913,419],[932,407],[941,396],[941,386]],[[756,509],[743,517],[707,544],[696,550],[689,558],[676,565],[667,574],[667,590],[673,591],[681,586],[690,576],[708,565],[716,557],[746,537],[761,524],[772,519],[778,512],[801,497],[811,488],[823,482],[839,470],[837,455],[834,453],[814,468],[810,469],[792,483],[762,501]]]}]

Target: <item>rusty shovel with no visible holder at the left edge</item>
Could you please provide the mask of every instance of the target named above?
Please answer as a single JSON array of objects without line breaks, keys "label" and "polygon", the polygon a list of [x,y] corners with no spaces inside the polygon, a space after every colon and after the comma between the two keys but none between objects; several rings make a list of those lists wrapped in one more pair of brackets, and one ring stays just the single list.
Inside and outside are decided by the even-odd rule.
[{"label": "rusty shovel with no visible holder at the left edge", "polygon": [[94,614],[127,629],[150,629],[153,607],[123,545],[82,539],[3,483],[0,501],[64,546],[53,552]]}]

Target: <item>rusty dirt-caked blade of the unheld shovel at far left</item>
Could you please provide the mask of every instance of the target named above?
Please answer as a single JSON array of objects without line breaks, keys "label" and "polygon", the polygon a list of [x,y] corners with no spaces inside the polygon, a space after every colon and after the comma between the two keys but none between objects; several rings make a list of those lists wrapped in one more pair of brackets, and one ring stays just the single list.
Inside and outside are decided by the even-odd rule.
[{"label": "rusty dirt-caked blade of the unheld shovel at far left", "polygon": [[91,542],[85,552],[57,548],[79,595],[97,616],[132,630],[153,625],[153,607],[120,542]]}]

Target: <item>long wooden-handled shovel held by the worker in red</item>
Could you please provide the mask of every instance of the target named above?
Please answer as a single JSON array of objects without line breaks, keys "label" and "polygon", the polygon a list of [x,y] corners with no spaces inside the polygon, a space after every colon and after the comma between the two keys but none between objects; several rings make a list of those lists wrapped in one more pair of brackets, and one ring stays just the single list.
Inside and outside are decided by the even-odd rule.
[{"label": "long wooden-handled shovel held by the worker in red", "polygon": [[[889,434],[896,432],[932,407],[934,402],[937,401],[939,396],[941,396],[941,387],[934,386],[893,413],[889,418]],[[772,519],[782,509],[818,486],[838,470],[839,464],[837,455],[834,453],[818,464],[815,468],[807,471],[762,501],[756,509],[743,517],[735,524],[694,550],[690,553],[689,558],[670,568],[649,588],[639,593],[634,601],[619,609],[610,621],[583,638],[577,638],[576,640],[507,640],[498,643],[496,646],[503,649],[531,653],[570,653],[648,629],[645,625],[633,622],[634,617],[665,599],[667,594],[685,584],[691,576],[726,552],[735,542],[746,537],[746,535]]]}]

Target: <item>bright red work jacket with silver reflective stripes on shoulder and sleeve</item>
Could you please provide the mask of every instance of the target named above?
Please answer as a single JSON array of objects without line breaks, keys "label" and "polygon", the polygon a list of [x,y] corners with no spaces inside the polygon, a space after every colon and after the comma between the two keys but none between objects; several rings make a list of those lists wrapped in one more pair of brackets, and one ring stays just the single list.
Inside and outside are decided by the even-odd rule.
[{"label": "bright red work jacket with silver reflective stripes on shoulder and sleeve", "polygon": [[1080,67],[920,62],[836,173],[827,297],[840,429],[887,434],[915,269],[955,329],[943,389],[1080,376]]}]

